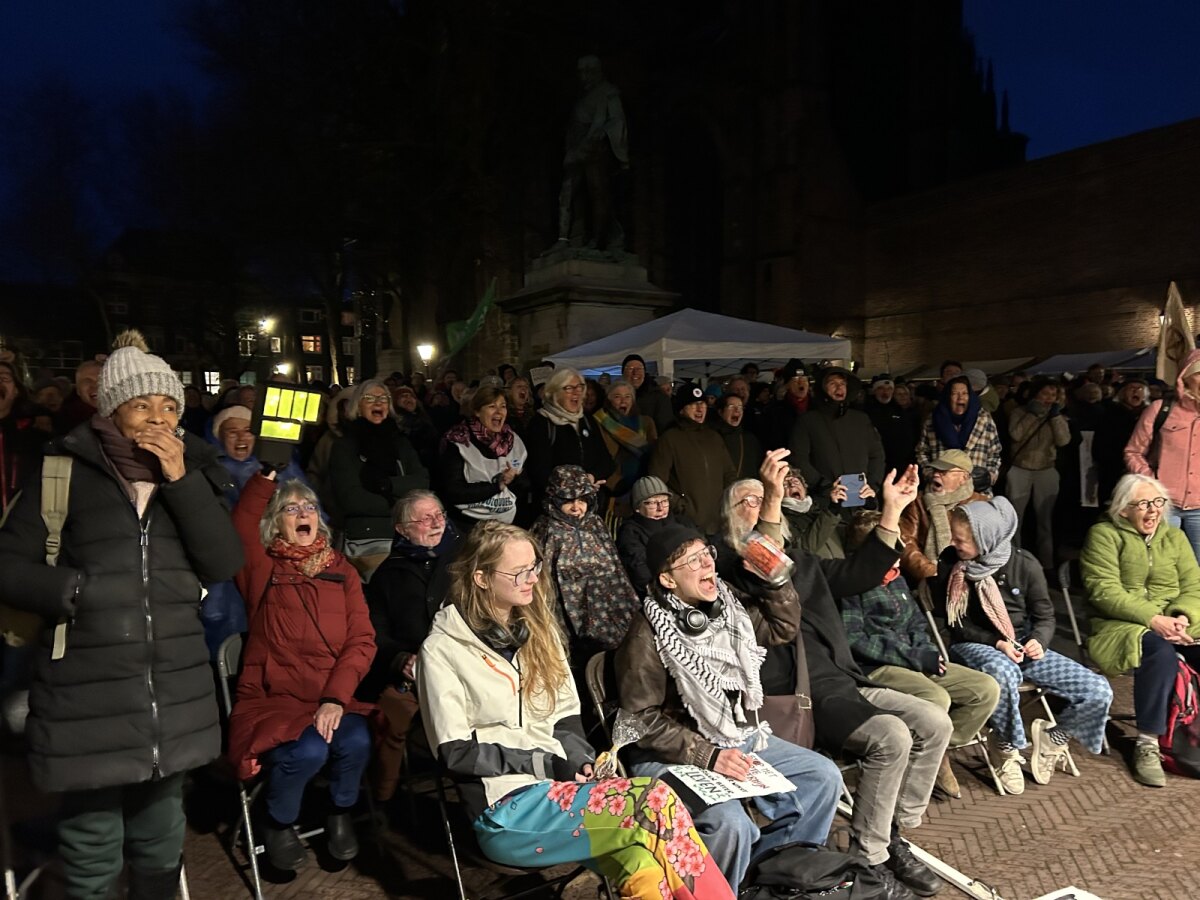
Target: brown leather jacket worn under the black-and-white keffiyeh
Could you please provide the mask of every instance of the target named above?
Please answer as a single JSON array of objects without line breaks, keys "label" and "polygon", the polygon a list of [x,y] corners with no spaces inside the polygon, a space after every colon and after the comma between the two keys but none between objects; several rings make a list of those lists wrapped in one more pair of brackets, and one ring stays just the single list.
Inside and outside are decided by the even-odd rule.
[{"label": "brown leather jacket worn under the black-and-white keffiyeh", "polygon": [[[730,586],[750,620],[761,647],[791,643],[800,626],[800,601],[791,581],[781,588],[750,598]],[[626,755],[631,762],[685,763],[710,769],[721,748],[696,731],[696,721],[684,709],[674,680],[667,674],[654,646],[654,630],[642,613],[634,623],[616,656],[620,706],[641,719],[646,733]],[[748,712],[750,721],[755,713]]]}]

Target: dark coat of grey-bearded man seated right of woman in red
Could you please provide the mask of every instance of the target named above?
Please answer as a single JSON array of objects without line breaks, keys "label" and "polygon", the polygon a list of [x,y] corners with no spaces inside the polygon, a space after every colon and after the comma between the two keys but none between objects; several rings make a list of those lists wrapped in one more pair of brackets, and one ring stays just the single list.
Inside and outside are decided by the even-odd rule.
[{"label": "dark coat of grey-bearded man seated right of woman in red", "polygon": [[374,701],[384,688],[401,684],[401,672],[428,637],[433,617],[450,589],[448,565],[460,538],[451,524],[434,548],[401,540],[365,588],[371,624],[376,630],[376,658],[358,696]]}]

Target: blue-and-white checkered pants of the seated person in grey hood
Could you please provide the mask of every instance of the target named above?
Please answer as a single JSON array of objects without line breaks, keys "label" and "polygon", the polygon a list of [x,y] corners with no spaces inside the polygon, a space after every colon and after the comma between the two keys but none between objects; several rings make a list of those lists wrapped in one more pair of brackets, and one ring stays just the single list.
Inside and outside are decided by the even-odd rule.
[{"label": "blue-and-white checkered pants of the seated person in grey hood", "polygon": [[950,659],[986,672],[1000,684],[1000,703],[991,714],[991,727],[1000,740],[1019,749],[1028,746],[1019,692],[1021,682],[1028,680],[1066,700],[1058,725],[1093,754],[1100,752],[1112,703],[1112,688],[1103,676],[1054,650],[1046,650],[1039,660],[1016,664],[995,647],[955,643],[950,644]]}]

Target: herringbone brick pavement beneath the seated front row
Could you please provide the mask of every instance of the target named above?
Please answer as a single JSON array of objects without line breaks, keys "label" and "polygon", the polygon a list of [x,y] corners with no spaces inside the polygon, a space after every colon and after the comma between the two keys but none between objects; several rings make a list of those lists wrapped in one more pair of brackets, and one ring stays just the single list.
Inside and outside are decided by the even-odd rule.
[{"label": "herringbone brick pavement beneath the seated front row", "polygon": [[[1115,710],[1132,708],[1132,679],[1114,680]],[[1117,734],[1114,728],[1110,736]],[[1081,778],[1058,773],[1050,785],[1032,781],[1020,797],[997,797],[986,770],[971,751],[960,751],[955,768],[962,782],[960,800],[935,803],[913,840],[960,870],[992,884],[1006,900],[1027,900],[1075,884],[1105,900],[1182,900],[1200,895],[1193,887],[1189,857],[1176,835],[1182,810],[1200,806],[1200,781],[1171,778],[1164,790],[1145,788],[1128,774],[1126,742],[1114,742],[1114,755],[1091,757],[1075,751]],[[52,812],[52,803],[29,786],[19,755],[10,748],[2,758],[5,787],[14,820]],[[980,774],[982,773],[982,774]],[[206,799],[223,800],[218,818],[232,821],[236,803],[232,788],[205,787]],[[269,898],[367,900],[454,896],[445,839],[437,808],[418,800],[412,814],[396,816],[382,847],[365,844],[364,853],[343,866],[310,862],[286,882],[268,884]],[[36,829],[18,829],[18,851],[29,858]],[[209,815],[192,816],[186,858],[192,896],[226,900],[250,896],[214,832]],[[472,896],[486,896],[486,869],[469,865]],[[954,896],[947,889],[942,896]],[[53,871],[32,892],[34,900],[61,896]],[[568,890],[569,900],[592,900],[596,883],[589,876]]]}]

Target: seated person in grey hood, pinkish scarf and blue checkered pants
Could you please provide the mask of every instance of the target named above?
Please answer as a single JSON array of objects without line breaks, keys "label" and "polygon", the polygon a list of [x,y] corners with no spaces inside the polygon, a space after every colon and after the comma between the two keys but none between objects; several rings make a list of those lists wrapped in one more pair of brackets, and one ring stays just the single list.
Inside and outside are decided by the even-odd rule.
[{"label": "seated person in grey hood, pinkish scarf and blue checkered pants", "polygon": [[952,546],[938,560],[935,596],[944,601],[953,643],[950,659],[1000,684],[991,716],[990,752],[1009,793],[1025,790],[1020,750],[1028,745],[1021,722],[1022,682],[1067,701],[1056,725],[1033,721],[1030,772],[1046,784],[1068,758],[1072,737],[1092,752],[1104,739],[1112,689],[1108,680],[1050,649],[1054,604],[1038,560],[1013,546],[1016,511],[1003,497],[966,503],[950,512]]}]

